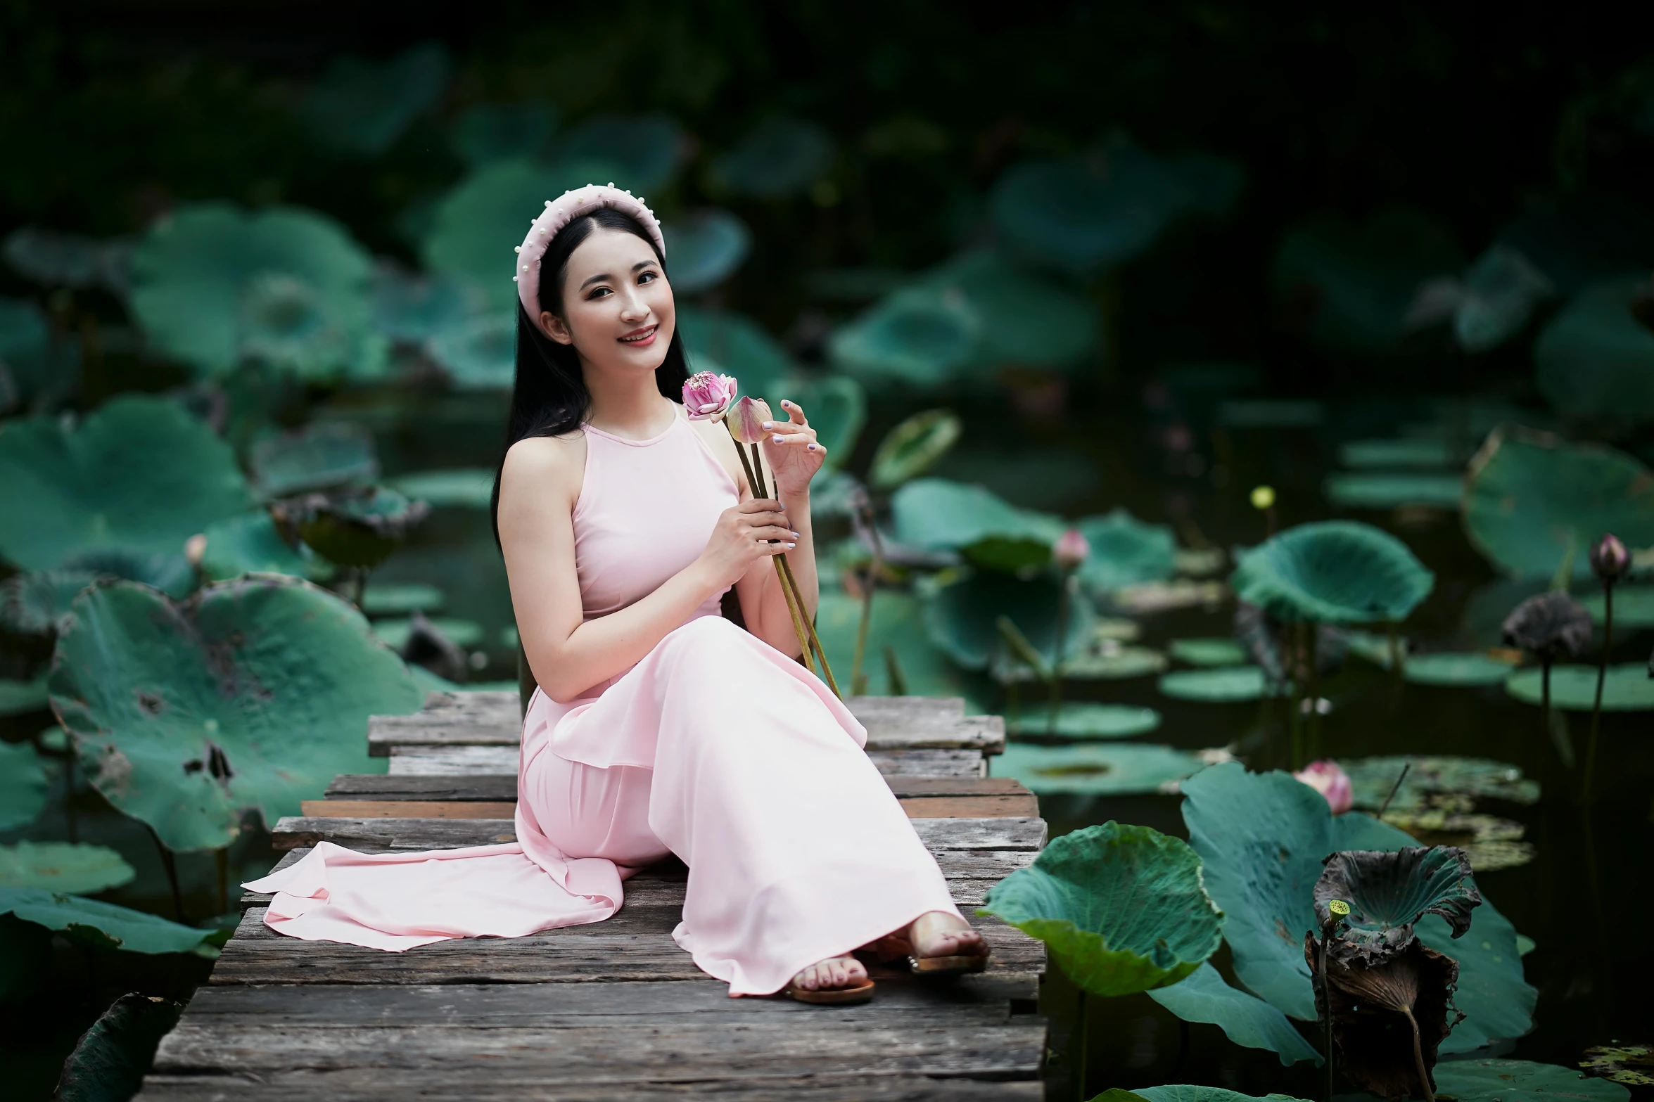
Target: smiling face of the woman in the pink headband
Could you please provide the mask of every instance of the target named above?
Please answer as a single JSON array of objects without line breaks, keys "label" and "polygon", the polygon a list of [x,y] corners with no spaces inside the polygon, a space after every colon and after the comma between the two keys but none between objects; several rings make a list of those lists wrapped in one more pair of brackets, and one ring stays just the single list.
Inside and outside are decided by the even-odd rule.
[{"label": "smiling face of the woman in the pink headband", "polygon": [[635,233],[594,228],[569,254],[562,317],[541,324],[604,372],[653,372],[667,359],[676,311],[655,249]]}]

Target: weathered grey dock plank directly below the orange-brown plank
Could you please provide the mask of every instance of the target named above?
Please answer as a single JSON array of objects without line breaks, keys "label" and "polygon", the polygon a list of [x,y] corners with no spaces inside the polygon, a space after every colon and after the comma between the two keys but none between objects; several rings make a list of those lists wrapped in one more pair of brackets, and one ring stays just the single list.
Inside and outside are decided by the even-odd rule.
[{"label": "weathered grey dock plank directly below the orange-brown plank", "polygon": [[[910,819],[920,839],[936,849],[1039,849],[1045,821],[1022,818]],[[304,818],[283,816],[271,831],[276,849],[331,841],[352,849],[455,849],[516,839],[513,819]]]}]

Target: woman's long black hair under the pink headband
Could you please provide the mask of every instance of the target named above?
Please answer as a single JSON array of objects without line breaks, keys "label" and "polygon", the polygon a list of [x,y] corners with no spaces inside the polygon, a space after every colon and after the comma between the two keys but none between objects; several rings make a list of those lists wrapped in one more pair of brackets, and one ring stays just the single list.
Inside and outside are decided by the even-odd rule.
[{"label": "woman's long black hair under the pink headband", "polygon": [[[564,226],[546,246],[546,256],[539,264],[539,304],[552,314],[562,314],[562,281],[569,274],[569,256],[579,245],[592,236],[592,230],[620,230],[633,233],[655,249],[655,259],[662,271],[667,258],[660,254],[643,225],[632,215],[604,207],[589,215],[576,218]],[[678,327],[672,327],[672,344],[667,345],[667,359],[655,368],[655,385],[660,393],[672,400],[683,398],[683,382],[690,377],[688,360],[683,355],[683,337]],[[557,344],[547,337],[538,319],[528,316],[523,302],[518,302],[518,350],[516,382],[511,383],[511,413],[506,416],[506,444],[500,453],[500,466],[495,468],[495,492],[488,502],[490,520],[495,527],[495,545],[500,545],[500,473],[504,469],[504,453],[519,439],[529,436],[561,436],[586,421],[590,411],[592,395],[586,390],[586,375],[581,372],[581,355],[574,345]]]}]

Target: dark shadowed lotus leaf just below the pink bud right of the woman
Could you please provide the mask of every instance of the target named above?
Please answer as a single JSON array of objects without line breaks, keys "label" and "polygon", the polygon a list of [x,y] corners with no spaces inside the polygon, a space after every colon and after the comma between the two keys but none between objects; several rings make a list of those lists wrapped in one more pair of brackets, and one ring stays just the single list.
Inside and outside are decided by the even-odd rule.
[{"label": "dark shadowed lotus leaf just below the pink bud right of the woman", "polygon": [[[999,629],[1007,616],[1045,661],[1057,643],[1057,582],[979,570],[936,587],[925,598],[925,629],[931,643],[966,669],[986,669],[996,654],[1009,654]],[[1062,656],[1078,654],[1092,638],[1092,603],[1078,593],[1067,598]]]}]

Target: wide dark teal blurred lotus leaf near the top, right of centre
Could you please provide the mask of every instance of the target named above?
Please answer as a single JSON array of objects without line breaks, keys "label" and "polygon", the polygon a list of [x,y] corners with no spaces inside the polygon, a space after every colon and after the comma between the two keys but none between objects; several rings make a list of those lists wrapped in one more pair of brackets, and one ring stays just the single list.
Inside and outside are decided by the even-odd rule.
[{"label": "wide dark teal blurred lotus leaf near the top, right of centre", "polygon": [[1115,135],[1078,157],[1025,160],[994,185],[989,210],[1019,253],[1070,271],[1113,268],[1173,223],[1227,208],[1240,169],[1209,154],[1158,157]]}]

